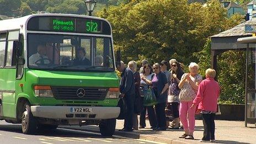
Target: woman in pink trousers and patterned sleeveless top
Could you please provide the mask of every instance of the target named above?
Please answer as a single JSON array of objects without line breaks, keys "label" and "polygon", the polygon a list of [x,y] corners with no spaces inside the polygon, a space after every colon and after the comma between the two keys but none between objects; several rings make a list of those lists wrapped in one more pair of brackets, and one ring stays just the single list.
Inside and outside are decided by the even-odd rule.
[{"label": "woman in pink trousers and patterned sleeveless top", "polygon": [[[194,140],[194,129],[195,129],[195,108],[190,109],[193,104],[193,100],[198,92],[198,85],[202,81],[202,77],[198,74],[198,64],[191,62],[189,65],[189,73],[184,73],[182,79],[179,82],[179,118],[182,121],[185,134],[179,138]],[[188,114],[189,120],[186,119]]]}]

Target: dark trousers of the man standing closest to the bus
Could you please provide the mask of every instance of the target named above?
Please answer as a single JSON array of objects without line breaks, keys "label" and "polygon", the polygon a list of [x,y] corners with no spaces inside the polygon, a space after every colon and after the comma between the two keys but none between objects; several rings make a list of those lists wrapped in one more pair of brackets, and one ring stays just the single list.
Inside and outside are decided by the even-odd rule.
[{"label": "dark trousers of the man standing closest to the bus", "polygon": [[135,101],[135,94],[125,95],[125,100],[127,104],[127,114],[125,116],[125,123],[124,128],[127,130],[132,129],[132,116],[134,114],[134,101]]}]

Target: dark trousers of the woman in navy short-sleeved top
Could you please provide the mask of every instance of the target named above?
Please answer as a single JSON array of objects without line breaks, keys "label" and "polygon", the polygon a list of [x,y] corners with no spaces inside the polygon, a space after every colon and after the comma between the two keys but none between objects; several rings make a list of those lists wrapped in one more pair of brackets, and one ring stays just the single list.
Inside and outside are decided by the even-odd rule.
[{"label": "dark trousers of the woman in navy short-sleeved top", "polygon": [[156,115],[157,115],[157,127],[166,128],[166,103],[159,103],[156,105]]}]

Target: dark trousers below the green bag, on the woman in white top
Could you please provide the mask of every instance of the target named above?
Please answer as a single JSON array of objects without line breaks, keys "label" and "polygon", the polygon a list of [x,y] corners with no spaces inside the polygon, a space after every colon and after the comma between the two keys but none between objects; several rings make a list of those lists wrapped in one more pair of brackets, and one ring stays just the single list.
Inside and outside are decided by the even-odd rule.
[{"label": "dark trousers below the green bag, on the woman in white top", "polygon": [[157,126],[156,113],[154,112],[153,106],[143,106],[143,109],[140,114],[140,126],[146,126],[146,110],[148,113],[148,118],[150,119],[150,125],[152,127]]}]

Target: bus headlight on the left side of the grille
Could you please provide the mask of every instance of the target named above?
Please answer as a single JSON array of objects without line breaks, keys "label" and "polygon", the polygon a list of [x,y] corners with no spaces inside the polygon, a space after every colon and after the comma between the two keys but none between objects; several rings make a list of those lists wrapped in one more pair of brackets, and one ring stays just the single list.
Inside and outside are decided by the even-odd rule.
[{"label": "bus headlight on the left side of the grille", "polygon": [[50,86],[34,86],[36,97],[46,97],[53,98],[54,94],[52,94]]}]

